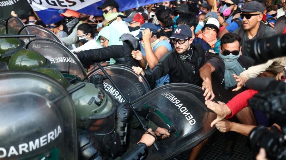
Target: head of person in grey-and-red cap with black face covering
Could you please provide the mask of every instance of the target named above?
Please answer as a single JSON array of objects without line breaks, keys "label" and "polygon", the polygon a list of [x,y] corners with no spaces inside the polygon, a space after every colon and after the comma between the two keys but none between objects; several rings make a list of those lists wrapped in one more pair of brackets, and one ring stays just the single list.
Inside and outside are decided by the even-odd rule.
[{"label": "head of person in grey-and-red cap with black face covering", "polygon": [[144,17],[136,12],[132,12],[127,18],[123,18],[122,20],[129,23],[130,34],[134,37],[139,34],[140,27],[144,24]]}]

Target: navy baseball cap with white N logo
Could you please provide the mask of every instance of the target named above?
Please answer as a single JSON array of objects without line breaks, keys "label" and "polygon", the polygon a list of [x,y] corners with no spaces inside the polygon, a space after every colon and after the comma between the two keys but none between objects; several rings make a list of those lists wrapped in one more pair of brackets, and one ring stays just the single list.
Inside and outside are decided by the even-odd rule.
[{"label": "navy baseball cap with white N logo", "polygon": [[174,33],[169,39],[175,38],[175,39],[186,39],[186,38],[192,38],[192,30],[187,25],[179,25],[178,28],[175,29]]}]

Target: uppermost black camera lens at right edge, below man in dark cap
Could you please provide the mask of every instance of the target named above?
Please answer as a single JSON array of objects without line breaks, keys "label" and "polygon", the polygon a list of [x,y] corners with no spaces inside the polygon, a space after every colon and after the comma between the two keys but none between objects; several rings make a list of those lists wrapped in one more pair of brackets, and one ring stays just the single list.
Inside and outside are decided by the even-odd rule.
[{"label": "uppermost black camera lens at right edge, below man in dark cap", "polygon": [[276,57],[286,56],[286,35],[277,34],[271,37],[248,41],[253,47],[249,55],[256,64],[265,63]]}]

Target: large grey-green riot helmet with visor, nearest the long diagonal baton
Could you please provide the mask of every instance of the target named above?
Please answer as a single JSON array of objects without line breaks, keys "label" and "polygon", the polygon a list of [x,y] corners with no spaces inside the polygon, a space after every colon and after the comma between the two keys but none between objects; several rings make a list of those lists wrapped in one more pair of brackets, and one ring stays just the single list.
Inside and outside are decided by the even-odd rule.
[{"label": "large grey-green riot helmet with visor, nearest the long diagonal baton", "polygon": [[116,101],[94,84],[80,82],[71,85],[68,90],[85,83],[86,86],[74,92],[77,127],[89,130],[97,135],[106,135],[115,129]]}]

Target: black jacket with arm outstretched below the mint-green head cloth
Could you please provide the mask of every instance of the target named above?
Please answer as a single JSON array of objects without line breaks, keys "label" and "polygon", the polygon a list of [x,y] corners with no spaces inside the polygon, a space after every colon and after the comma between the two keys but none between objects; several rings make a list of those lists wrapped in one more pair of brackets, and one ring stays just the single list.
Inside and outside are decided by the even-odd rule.
[{"label": "black jacket with arm outstretched below the mint-green head cloth", "polygon": [[81,63],[91,65],[102,61],[108,61],[110,58],[116,60],[116,64],[124,64],[130,67],[140,66],[139,61],[131,56],[134,49],[129,41],[123,41],[123,46],[112,45],[105,48],[90,49],[82,52],[75,53]]}]

